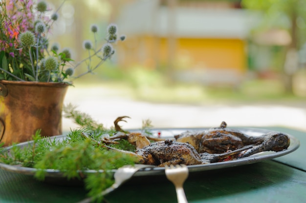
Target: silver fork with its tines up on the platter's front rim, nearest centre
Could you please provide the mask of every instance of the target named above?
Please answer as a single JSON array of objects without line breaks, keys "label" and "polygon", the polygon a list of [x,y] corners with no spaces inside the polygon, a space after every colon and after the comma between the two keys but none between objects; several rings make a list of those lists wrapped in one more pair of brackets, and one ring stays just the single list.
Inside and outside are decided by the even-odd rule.
[{"label": "silver fork with its tines up on the platter's front rim, nearest centre", "polygon": [[166,177],[175,185],[176,197],[178,203],[188,203],[183,184],[188,177],[189,171],[186,165],[165,166]]}]

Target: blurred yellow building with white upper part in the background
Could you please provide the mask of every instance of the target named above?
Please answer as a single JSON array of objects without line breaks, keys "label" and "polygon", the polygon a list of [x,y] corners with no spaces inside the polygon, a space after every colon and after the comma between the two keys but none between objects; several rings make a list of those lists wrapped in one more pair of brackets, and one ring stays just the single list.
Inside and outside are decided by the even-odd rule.
[{"label": "blurred yellow building with white upper part in the background", "polygon": [[[241,9],[162,6],[139,0],[121,10],[118,62],[175,71],[180,80],[236,83],[246,71],[252,21]],[[122,54],[124,53],[124,54]]]}]

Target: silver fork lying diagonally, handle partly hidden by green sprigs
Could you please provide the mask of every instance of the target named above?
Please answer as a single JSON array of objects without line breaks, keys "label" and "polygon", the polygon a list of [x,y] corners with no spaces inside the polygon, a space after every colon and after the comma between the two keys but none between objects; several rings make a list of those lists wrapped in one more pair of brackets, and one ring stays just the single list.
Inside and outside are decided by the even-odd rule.
[{"label": "silver fork lying diagonally, handle partly hidden by green sprigs", "polygon": [[[106,190],[102,191],[98,197],[102,197],[106,194],[109,194],[110,192],[114,191],[117,189],[121,184],[125,183],[128,181],[139,169],[141,168],[150,168],[150,167],[155,167],[154,165],[146,165],[146,164],[135,164],[134,166],[131,165],[125,165],[122,166],[121,168],[118,168],[116,172],[114,173],[114,179],[115,183],[113,183],[109,188]],[[90,203],[93,201],[93,198],[89,197],[84,200],[82,200],[79,203]]]}]

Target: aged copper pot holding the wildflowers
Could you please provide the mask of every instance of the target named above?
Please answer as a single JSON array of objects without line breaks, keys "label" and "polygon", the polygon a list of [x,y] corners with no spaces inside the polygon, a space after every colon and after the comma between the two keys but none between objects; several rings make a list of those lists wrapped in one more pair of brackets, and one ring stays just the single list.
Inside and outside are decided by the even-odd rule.
[{"label": "aged copper pot holding the wildflowers", "polygon": [[68,84],[0,81],[0,142],[29,141],[38,129],[42,136],[62,134],[62,107]]}]

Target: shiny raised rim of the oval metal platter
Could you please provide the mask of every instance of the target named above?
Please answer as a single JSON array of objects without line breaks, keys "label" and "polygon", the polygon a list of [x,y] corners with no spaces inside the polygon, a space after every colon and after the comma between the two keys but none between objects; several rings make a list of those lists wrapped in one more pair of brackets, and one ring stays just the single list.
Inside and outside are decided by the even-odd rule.
[{"label": "shiny raised rim of the oval metal platter", "polygon": [[[240,131],[251,131],[251,132],[256,132],[256,133],[268,133],[268,132],[280,132],[277,130],[269,130],[269,129],[263,129],[263,128],[254,128],[254,127],[232,127],[233,129],[237,129]],[[198,131],[198,130],[208,130],[210,128],[153,128],[150,129],[152,131],[174,131],[178,130],[181,132],[185,131]],[[135,130],[132,129],[130,131],[139,131],[139,129]],[[246,165],[246,164],[251,164],[251,163],[256,163],[256,162],[262,162],[264,160],[270,160],[274,159],[277,157],[284,156],[286,154],[289,154],[296,149],[299,148],[300,146],[300,141],[295,138],[294,136],[284,133],[289,136],[290,138],[290,145],[287,149],[279,151],[279,152],[273,152],[273,151],[267,151],[267,152],[260,152],[255,155],[237,159],[237,160],[231,160],[231,161],[226,161],[226,162],[216,162],[216,163],[207,163],[207,164],[197,164],[197,165],[188,165],[189,172],[200,172],[200,171],[208,171],[208,170],[215,170],[215,169],[221,169],[221,168],[229,168],[229,167],[234,167],[234,166],[239,166],[239,165]],[[51,136],[51,137],[46,137],[45,139],[61,139],[61,138],[66,138],[67,135],[57,135],[57,136]],[[22,142],[18,143],[15,146],[24,146],[33,143],[34,141],[28,141],[28,142]],[[13,146],[7,146],[7,147],[2,147],[0,148],[1,151],[9,150]],[[3,162],[0,162],[0,169],[10,171],[10,172],[15,172],[15,173],[20,173],[24,175],[30,175],[34,176],[35,173],[37,172],[36,168],[30,168],[30,167],[24,167],[24,166],[17,166],[17,165],[9,165],[5,164]],[[96,173],[96,172],[102,172],[103,170],[86,170],[82,171],[83,173]],[[111,172],[115,172],[116,169],[111,170]],[[46,178],[65,178],[64,172],[60,171],[59,169],[45,169],[45,177]],[[134,176],[153,176],[153,175],[162,175],[165,174],[165,167],[148,167],[148,168],[142,168],[139,171],[137,171]]]}]

